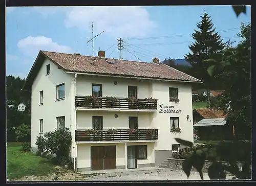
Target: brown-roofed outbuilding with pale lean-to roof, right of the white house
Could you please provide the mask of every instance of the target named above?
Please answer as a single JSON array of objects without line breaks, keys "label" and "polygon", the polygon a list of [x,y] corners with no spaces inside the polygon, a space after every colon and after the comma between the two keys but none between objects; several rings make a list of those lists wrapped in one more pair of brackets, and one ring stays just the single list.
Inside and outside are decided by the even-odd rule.
[{"label": "brown-roofed outbuilding with pale lean-to roof, right of the white house", "polygon": [[225,117],[223,111],[209,108],[194,109],[193,124],[200,140],[231,139],[233,129],[226,125]]}]

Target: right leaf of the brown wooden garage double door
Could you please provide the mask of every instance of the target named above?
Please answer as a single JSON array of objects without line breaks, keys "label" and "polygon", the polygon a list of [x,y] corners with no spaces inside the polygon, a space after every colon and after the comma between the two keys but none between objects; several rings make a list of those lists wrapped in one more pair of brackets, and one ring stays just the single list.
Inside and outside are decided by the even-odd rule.
[{"label": "right leaf of the brown wooden garage double door", "polygon": [[104,147],[104,169],[116,169],[116,146]]}]

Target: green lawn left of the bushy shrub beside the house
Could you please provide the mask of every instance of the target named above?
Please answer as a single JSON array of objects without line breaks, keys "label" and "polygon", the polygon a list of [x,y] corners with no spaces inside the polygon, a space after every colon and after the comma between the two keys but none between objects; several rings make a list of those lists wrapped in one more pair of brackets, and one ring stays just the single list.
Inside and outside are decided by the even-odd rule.
[{"label": "green lawn left of the bushy shrub beside the house", "polygon": [[22,143],[7,144],[7,178],[15,180],[23,176],[41,176],[55,171],[50,160],[34,153],[20,151]]}]

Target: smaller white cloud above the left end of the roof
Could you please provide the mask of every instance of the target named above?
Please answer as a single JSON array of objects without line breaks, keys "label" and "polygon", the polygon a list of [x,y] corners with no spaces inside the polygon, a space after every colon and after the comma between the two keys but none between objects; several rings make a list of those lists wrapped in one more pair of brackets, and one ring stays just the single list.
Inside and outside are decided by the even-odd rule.
[{"label": "smaller white cloud above the left end of the roof", "polygon": [[66,45],[59,45],[57,42],[53,42],[51,38],[45,36],[32,37],[29,36],[25,39],[21,39],[17,43],[18,49],[23,52],[24,55],[35,58],[39,50],[72,53],[72,49]]}]

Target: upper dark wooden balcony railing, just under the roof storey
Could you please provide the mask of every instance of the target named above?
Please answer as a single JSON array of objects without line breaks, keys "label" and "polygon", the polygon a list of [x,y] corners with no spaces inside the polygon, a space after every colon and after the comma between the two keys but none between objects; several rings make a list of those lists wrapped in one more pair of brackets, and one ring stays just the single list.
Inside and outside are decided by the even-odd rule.
[{"label": "upper dark wooden balcony railing, just under the roof storey", "polygon": [[137,99],[129,102],[127,98],[115,98],[108,101],[106,97],[97,97],[94,100],[87,100],[85,96],[75,96],[75,108],[119,108],[119,109],[144,109],[156,110],[157,100]]}]

